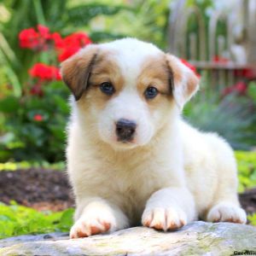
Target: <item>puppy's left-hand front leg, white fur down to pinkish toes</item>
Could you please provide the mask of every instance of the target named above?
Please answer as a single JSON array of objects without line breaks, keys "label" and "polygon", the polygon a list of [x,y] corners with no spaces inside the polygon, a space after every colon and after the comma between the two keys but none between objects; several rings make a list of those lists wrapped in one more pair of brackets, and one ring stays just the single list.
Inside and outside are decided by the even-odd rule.
[{"label": "puppy's left-hand front leg, white fur down to pinkish toes", "polygon": [[90,198],[78,202],[75,220],[70,230],[70,238],[113,232],[129,226],[128,218],[119,207],[101,198]]}]

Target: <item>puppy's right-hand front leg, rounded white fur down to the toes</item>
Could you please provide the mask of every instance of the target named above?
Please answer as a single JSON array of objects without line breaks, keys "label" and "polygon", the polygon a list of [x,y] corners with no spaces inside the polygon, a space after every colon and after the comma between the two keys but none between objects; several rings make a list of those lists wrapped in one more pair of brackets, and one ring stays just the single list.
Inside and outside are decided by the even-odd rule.
[{"label": "puppy's right-hand front leg, rounded white fur down to the toes", "polygon": [[176,230],[195,219],[195,202],[186,188],[154,192],[143,212],[142,223],[156,230]]}]

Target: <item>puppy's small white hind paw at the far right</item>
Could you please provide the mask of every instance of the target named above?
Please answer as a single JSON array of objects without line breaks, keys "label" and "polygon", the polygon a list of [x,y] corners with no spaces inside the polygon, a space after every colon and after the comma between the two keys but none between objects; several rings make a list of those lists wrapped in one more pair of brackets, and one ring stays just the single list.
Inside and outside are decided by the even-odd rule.
[{"label": "puppy's small white hind paw at the far right", "polygon": [[207,214],[207,221],[210,222],[234,222],[247,223],[246,212],[232,203],[219,203]]}]

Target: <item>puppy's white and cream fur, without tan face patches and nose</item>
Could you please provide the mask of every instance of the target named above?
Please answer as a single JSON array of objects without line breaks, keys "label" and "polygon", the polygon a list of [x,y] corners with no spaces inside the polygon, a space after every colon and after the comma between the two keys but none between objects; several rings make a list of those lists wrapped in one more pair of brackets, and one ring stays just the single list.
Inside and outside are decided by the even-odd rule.
[{"label": "puppy's white and cream fur, without tan face patches and nose", "polygon": [[[84,113],[83,104],[72,101],[67,170],[77,209],[70,236],[93,235],[92,227],[101,233],[141,223],[173,230],[198,217],[245,223],[230,146],[217,135],[186,124],[171,103],[149,112],[137,94],[143,61],[159,55],[160,49],[131,38],[100,47],[114,51],[125,86],[104,109]],[[186,78],[186,67],[183,70]],[[177,94],[183,105],[188,99]],[[90,99],[85,96],[86,100]],[[114,122],[120,118],[138,124],[135,142],[129,146],[116,141]]]}]

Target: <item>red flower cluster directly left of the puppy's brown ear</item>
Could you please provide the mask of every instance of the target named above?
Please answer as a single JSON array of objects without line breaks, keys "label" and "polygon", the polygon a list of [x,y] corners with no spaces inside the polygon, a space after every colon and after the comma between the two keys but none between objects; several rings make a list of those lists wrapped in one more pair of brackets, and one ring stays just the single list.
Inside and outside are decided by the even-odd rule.
[{"label": "red flower cluster directly left of the puppy's brown ear", "polygon": [[54,66],[47,66],[44,63],[36,63],[30,70],[32,78],[41,80],[61,80],[60,70]]}]

